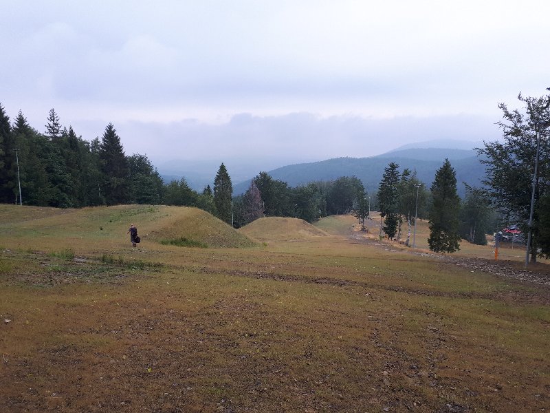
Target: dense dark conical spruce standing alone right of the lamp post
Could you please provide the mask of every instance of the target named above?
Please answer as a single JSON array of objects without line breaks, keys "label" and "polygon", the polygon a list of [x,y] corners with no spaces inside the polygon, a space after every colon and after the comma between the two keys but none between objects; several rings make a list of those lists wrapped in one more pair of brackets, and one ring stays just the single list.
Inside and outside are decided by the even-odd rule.
[{"label": "dense dark conical spruce standing alone right of the lamp post", "polygon": [[454,253],[460,249],[460,198],[456,193],[456,173],[448,159],[445,159],[443,166],[436,171],[430,190],[430,250],[437,253]]}]

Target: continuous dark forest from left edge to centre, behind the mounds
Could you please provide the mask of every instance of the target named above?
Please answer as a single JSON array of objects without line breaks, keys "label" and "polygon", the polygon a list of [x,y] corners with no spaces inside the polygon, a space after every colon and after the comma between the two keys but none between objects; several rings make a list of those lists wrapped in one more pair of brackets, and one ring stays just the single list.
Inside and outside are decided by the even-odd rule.
[{"label": "continuous dark forest from left edge to centre, behind the mounds", "polygon": [[242,226],[259,216],[293,216],[309,222],[347,213],[364,187],[358,178],[338,178],[291,188],[260,172],[245,195],[233,197],[223,165],[200,193],[185,178],[164,183],[147,156],[127,156],[112,123],[91,142],[63,127],[51,109],[43,132],[19,111],[13,123],[0,104],[0,202],[82,208],[115,204],[198,207]]}]

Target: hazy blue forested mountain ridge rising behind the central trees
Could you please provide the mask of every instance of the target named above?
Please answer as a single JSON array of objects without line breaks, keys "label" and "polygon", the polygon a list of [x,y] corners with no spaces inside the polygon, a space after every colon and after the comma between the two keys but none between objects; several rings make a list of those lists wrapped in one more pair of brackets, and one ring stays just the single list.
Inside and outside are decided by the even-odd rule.
[{"label": "hazy blue forested mountain ridge rising behind the central trees", "polygon": [[234,195],[244,193],[250,180],[260,171],[267,171],[274,179],[287,182],[291,187],[319,180],[336,180],[341,176],[356,176],[362,180],[369,193],[375,193],[384,168],[390,162],[397,162],[401,171],[405,168],[416,171],[418,178],[429,187],[435,171],[448,158],[456,171],[459,193],[463,194],[462,182],[478,187],[485,176],[485,167],[479,162],[474,149],[476,147],[483,147],[483,142],[429,140],[404,145],[369,158],[332,158],[282,166],[270,165],[269,160],[172,160],[159,165],[158,169],[164,180],[169,182],[184,177],[189,186],[197,191],[202,191],[207,184],[212,186],[219,165],[224,162],[233,182]]}]

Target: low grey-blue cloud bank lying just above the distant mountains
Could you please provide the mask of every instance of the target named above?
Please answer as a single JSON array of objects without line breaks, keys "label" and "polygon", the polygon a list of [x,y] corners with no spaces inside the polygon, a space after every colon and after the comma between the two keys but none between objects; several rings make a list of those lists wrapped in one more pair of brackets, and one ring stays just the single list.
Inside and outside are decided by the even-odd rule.
[{"label": "low grey-blue cloud bank lying just above the distant mountains", "polygon": [[[115,125],[126,151],[170,159],[265,160],[283,163],[340,156],[374,156],[410,142],[432,139],[496,140],[500,131],[478,116],[402,117],[387,120],[358,116],[322,118],[308,113],[285,116],[238,114],[227,123],[196,120],[179,123]],[[267,166],[266,166],[267,168]]]}]

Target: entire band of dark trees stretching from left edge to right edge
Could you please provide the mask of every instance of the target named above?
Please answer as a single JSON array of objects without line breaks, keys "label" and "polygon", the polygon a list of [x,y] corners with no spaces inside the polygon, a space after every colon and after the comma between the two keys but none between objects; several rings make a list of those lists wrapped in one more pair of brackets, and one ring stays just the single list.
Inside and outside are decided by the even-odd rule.
[{"label": "entire band of dark trees stretching from left edge to right edge", "polygon": [[146,156],[126,156],[112,124],[101,138],[88,142],[72,127],[61,127],[54,109],[41,133],[28,125],[21,111],[11,124],[0,104],[0,202],[61,208],[127,203],[192,206],[235,227],[263,216],[314,222],[342,213],[353,213],[364,224],[373,209],[380,211],[381,234],[406,244],[415,219],[427,218],[430,249],[448,253],[459,249],[461,239],[486,244],[487,233],[518,224],[529,233],[534,261],[550,256],[550,96],[518,98],[522,109],[499,105],[503,141],[485,142],[477,149],[486,166],[485,186],[467,186],[463,200],[457,195],[456,173],[449,160],[437,170],[429,189],[415,171],[399,171],[399,165],[390,162],[372,196],[355,176],[289,187],[264,171],[243,195],[233,196],[222,163],[214,187],[208,185],[198,193],[185,178],[162,182]]}]

